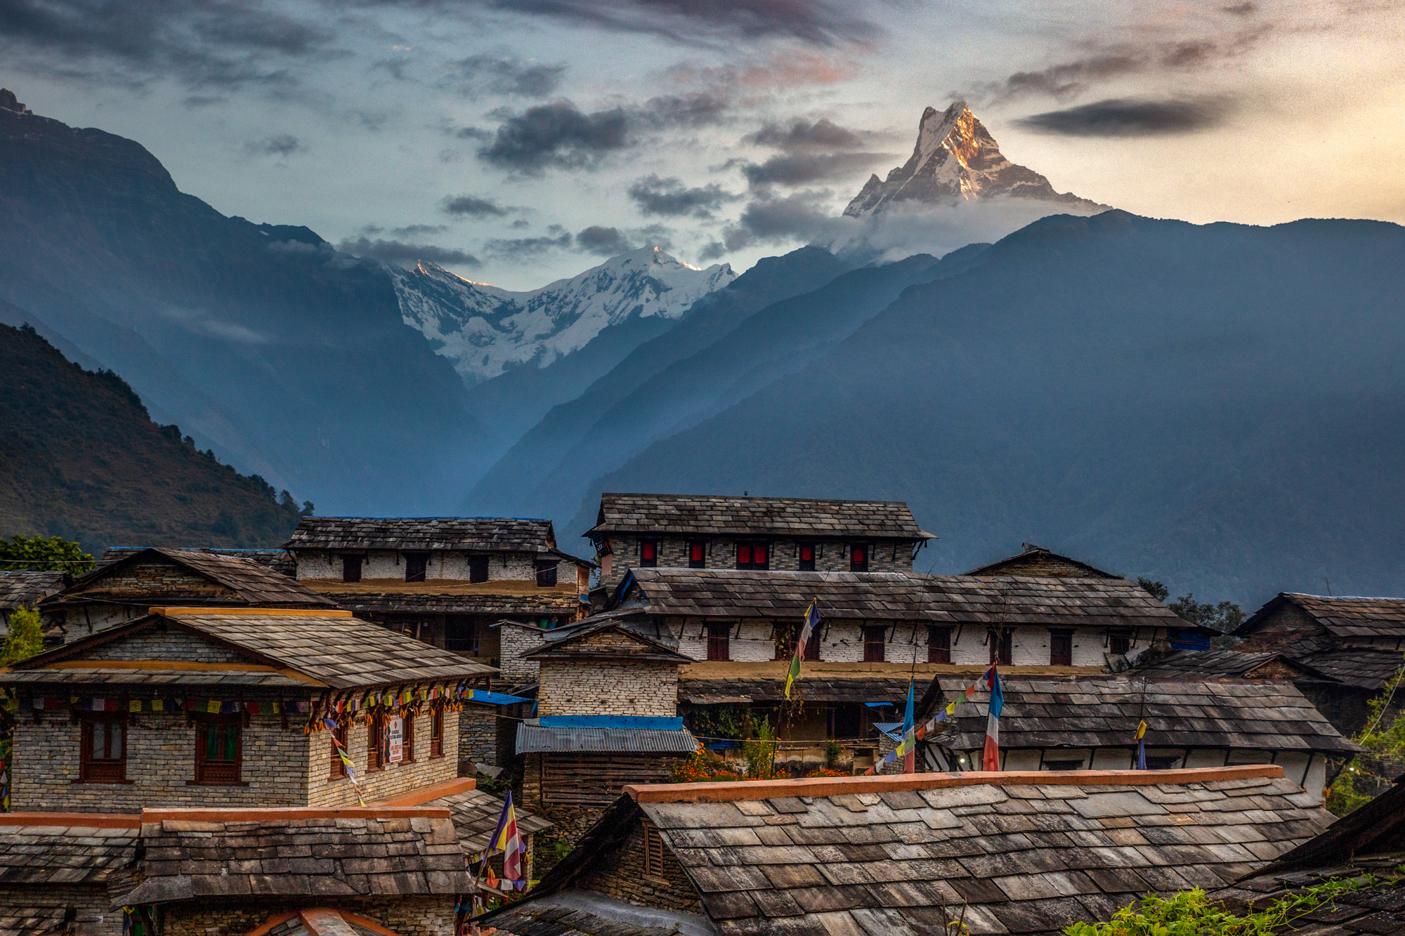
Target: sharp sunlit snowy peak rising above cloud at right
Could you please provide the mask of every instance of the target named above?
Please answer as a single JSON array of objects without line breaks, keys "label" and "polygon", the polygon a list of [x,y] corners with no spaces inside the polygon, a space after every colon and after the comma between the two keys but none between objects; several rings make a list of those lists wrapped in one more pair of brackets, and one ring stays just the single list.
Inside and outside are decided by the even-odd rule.
[{"label": "sharp sunlit snowy peak rising above cloud at right", "polygon": [[986,198],[1047,201],[1082,212],[1107,209],[1096,201],[1057,193],[1044,176],[1012,163],[965,101],[955,101],[944,114],[932,107],[923,111],[912,157],[885,180],[870,176],[844,214],[864,218],[894,202],[920,207]]}]

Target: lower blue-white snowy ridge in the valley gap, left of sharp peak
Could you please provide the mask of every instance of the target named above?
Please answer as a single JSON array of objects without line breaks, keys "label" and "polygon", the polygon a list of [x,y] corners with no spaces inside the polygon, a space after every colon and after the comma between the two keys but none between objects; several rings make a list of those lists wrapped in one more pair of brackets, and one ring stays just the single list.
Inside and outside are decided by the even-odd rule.
[{"label": "lower blue-white snowy ridge in the valley gap, left of sharp peak", "polygon": [[681,318],[736,274],[698,270],[659,247],[641,247],[569,280],[513,292],[454,275],[433,263],[389,267],[400,316],[454,361],[469,386],[511,367],[547,367],[631,318]]}]

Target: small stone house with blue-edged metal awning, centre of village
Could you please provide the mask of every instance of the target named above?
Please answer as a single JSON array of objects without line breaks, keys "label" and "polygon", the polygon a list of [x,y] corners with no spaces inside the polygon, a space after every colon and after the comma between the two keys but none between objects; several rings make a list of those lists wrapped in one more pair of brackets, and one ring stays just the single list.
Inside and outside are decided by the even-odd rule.
[{"label": "small stone house with blue-edged metal awning, centre of village", "polygon": [[537,718],[517,727],[523,807],[568,839],[629,783],[665,783],[697,748],[677,715],[679,666],[667,644],[607,618],[527,654],[541,668]]}]

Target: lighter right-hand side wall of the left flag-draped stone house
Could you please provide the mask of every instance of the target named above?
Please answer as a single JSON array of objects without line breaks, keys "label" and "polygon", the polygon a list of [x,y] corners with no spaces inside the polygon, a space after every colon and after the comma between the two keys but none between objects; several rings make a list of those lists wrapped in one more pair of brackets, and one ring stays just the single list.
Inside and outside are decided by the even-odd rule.
[{"label": "lighter right-hand side wall of the left flag-draped stone house", "polygon": [[[299,728],[301,734],[301,728]],[[430,713],[426,710],[414,720],[414,760],[388,763],[381,770],[367,772],[367,752],[371,735],[370,722],[351,725],[347,731],[347,756],[367,802],[409,793],[431,783],[443,783],[458,776],[458,713],[444,713],[444,755],[430,758]],[[306,805],[341,807],[355,805],[355,788],[347,777],[332,777],[332,735],[319,731],[308,735],[309,756]]]}]

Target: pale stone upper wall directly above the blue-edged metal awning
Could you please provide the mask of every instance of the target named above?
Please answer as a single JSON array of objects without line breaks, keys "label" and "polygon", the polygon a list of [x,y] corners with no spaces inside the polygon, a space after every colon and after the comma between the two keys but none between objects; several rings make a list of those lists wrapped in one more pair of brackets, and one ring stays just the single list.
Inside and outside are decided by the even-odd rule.
[{"label": "pale stone upper wall directly above the blue-edged metal awning", "polygon": [[542,661],[538,715],[679,714],[677,663],[652,661]]}]

